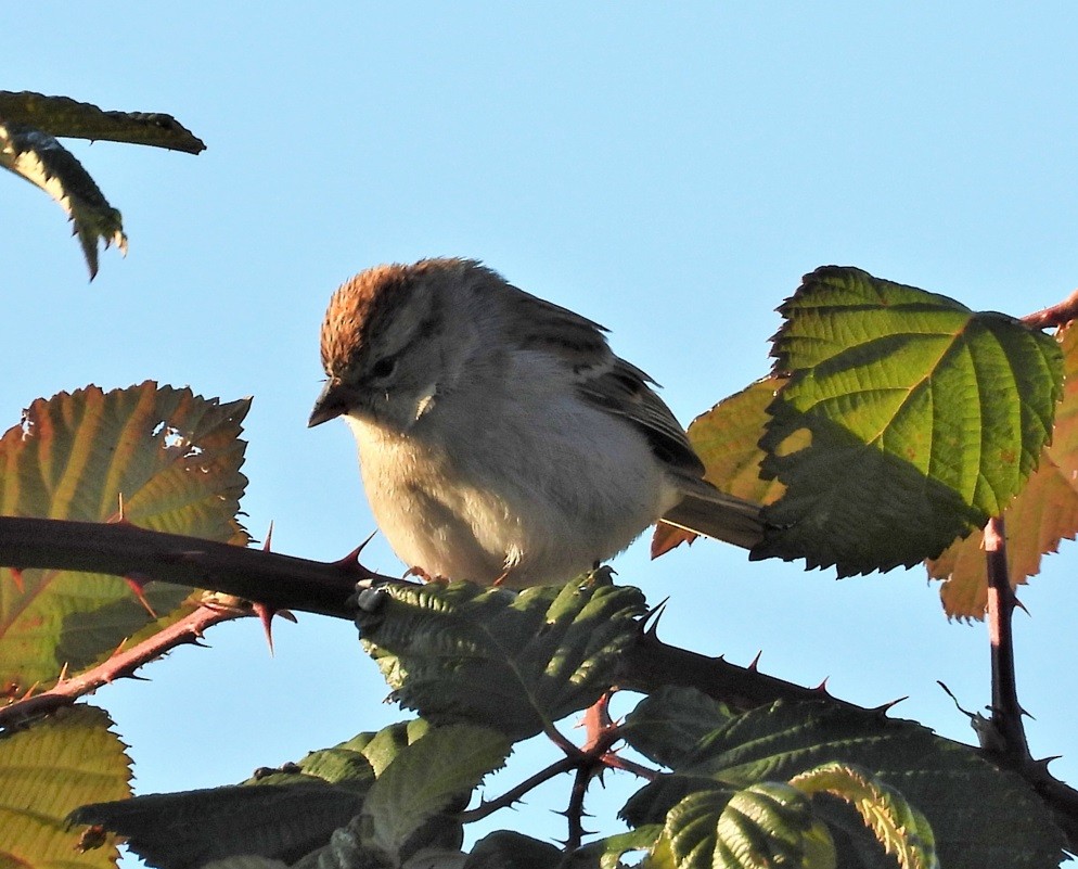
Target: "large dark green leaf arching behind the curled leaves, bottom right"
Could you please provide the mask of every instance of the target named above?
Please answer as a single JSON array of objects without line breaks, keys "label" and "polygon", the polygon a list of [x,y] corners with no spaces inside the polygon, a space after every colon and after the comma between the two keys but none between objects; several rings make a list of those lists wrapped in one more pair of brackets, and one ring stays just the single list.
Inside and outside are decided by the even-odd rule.
[{"label": "large dark green leaf arching behind the curled leaves, bottom right", "polygon": [[863,767],[901,792],[928,819],[948,869],[1047,869],[1061,859],[1063,834],[1017,775],[920,725],[822,702],[777,703],[717,728],[623,814],[634,826],[654,823],[708,780],[740,789],[832,762]]}]

